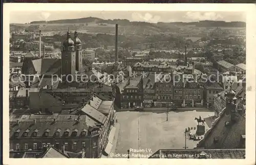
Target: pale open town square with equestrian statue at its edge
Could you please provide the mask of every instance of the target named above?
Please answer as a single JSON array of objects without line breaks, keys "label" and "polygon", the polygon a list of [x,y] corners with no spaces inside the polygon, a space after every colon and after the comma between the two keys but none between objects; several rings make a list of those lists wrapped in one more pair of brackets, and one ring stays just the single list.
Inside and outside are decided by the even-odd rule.
[{"label": "pale open town square with equestrian statue at its edge", "polygon": [[[159,149],[184,149],[185,128],[197,127],[195,117],[206,119],[207,130],[214,120],[212,111],[180,111],[169,112],[166,121],[166,112],[117,112],[120,130],[118,134],[115,154],[124,158],[127,150],[130,157],[148,157]],[[194,148],[198,141],[186,139],[186,147]],[[119,158],[122,157],[119,155]]]}]

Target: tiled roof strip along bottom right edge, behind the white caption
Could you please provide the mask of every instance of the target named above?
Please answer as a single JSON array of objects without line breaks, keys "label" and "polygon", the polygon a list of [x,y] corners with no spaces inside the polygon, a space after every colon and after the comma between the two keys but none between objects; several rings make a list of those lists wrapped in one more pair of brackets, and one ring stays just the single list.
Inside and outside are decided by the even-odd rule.
[{"label": "tiled roof strip along bottom right edge, behind the white caption", "polygon": [[[186,155],[193,155],[193,158],[206,158],[204,156],[208,155],[210,156],[211,159],[244,159],[245,149],[158,150],[150,158],[191,158]],[[199,156],[199,157],[195,157],[195,156]]]}]

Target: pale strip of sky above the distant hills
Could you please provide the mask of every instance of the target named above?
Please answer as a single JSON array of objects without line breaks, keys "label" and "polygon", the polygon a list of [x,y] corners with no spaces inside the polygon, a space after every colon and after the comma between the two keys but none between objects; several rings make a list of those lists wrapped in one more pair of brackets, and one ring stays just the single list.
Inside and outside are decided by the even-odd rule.
[{"label": "pale strip of sky above the distant hills", "polygon": [[242,12],[196,12],[196,11],[15,11],[10,13],[10,23],[26,23],[39,20],[75,19],[84,17],[102,19],[128,19],[130,21],[191,22],[200,20],[246,21]]}]

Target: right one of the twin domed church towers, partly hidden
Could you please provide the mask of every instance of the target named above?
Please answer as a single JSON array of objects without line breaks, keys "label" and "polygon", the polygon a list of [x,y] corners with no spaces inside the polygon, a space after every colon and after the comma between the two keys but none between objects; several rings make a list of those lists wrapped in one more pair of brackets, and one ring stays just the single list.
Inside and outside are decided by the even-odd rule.
[{"label": "right one of the twin domed church towers, partly hidden", "polygon": [[78,33],[75,31],[75,38],[74,38],[74,46],[76,52],[76,70],[80,72],[82,70],[82,45],[81,41],[78,38]]}]

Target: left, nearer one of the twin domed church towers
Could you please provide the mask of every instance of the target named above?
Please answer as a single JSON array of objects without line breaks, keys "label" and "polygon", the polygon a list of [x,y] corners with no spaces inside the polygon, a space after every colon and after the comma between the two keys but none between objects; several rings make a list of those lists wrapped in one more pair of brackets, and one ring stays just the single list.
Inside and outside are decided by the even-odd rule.
[{"label": "left, nearer one of the twin domed church towers", "polygon": [[67,32],[67,39],[62,44],[61,51],[61,75],[62,81],[75,81],[76,74],[76,53],[74,41],[71,39],[70,31]]}]

